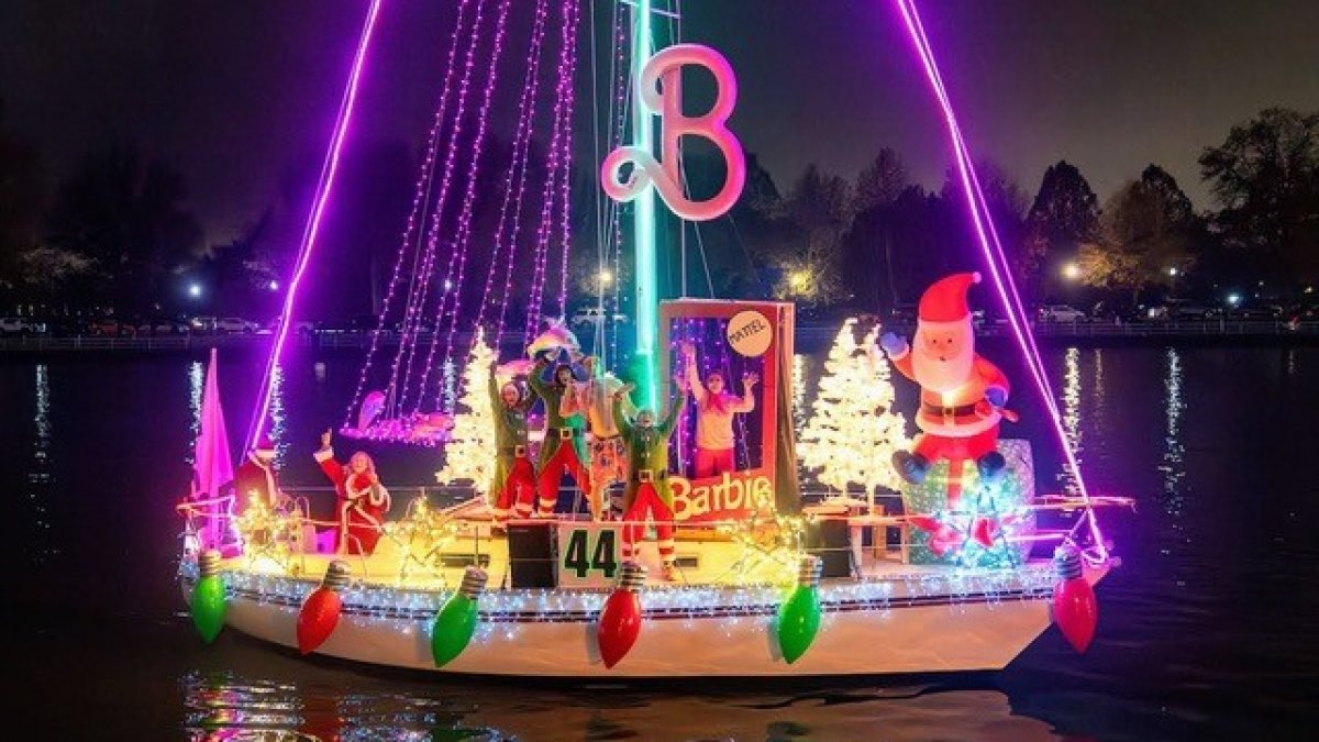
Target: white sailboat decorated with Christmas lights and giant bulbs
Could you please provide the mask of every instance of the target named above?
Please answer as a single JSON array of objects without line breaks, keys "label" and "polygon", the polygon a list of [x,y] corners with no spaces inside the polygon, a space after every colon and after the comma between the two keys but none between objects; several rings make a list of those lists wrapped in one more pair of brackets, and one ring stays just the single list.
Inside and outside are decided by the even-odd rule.
[{"label": "white sailboat decorated with Christmas lights and giant bulbs", "polygon": [[[650,4],[644,0],[634,5],[633,17],[645,18],[650,12]],[[906,0],[900,5],[904,16],[914,13],[914,5]],[[353,86],[379,7],[375,0],[368,11],[338,133],[317,189],[307,242],[301,248],[299,271],[310,259],[310,240],[328,198],[338,148],[348,129]],[[566,119],[558,112],[562,96],[572,88],[571,65],[563,59],[571,57],[571,29],[579,20],[574,8],[575,4],[563,4],[565,16],[559,18],[566,30],[559,84],[553,86],[554,95],[559,96],[554,100],[554,143],[570,139]],[[460,15],[455,45],[463,22]],[[497,24],[503,22],[504,16],[500,16]],[[917,28],[918,24],[913,24],[911,32],[917,33]],[[468,29],[464,33],[470,34],[472,46],[477,46],[477,32]],[[500,32],[487,29],[487,33]],[[538,22],[532,33],[534,41],[534,34],[543,33],[542,25]],[[493,48],[497,53],[499,44]],[[925,53],[925,46],[918,48]],[[636,115],[642,116],[642,121],[649,121],[645,116],[660,116],[663,128],[666,115],[677,112],[681,116],[681,98],[666,100],[665,96],[681,96],[681,86],[674,83],[683,66],[703,66],[714,75],[716,103],[700,119],[681,116],[682,133],[663,137],[663,165],[648,149],[649,143],[648,148],[619,143],[601,165],[603,190],[617,202],[658,197],[683,219],[718,218],[736,201],[745,178],[740,144],[724,125],[736,99],[728,62],[712,49],[690,44],[673,45],[633,62],[628,74],[640,91]],[[661,79],[666,81],[662,91],[657,87]],[[468,87],[464,79],[462,95],[467,95]],[[524,100],[530,100],[534,110],[536,88],[528,90]],[[487,96],[487,106],[488,100]],[[520,106],[520,118],[525,114]],[[484,120],[484,110],[480,116]],[[524,124],[529,120],[522,118]],[[437,118],[427,166],[437,166],[435,152],[442,148],[435,137],[442,123]],[[518,131],[518,137],[524,136],[522,125]],[[617,133],[621,136],[621,128]],[[673,158],[681,156],[675,151],[678,136],[710,139],[724,156],[727,180],[719,195],[691,202],[671,180],[678,170]],[[958,166],[966,173],[968,160],[963,157],[964,145],[955,125],[950,125],[950,136],[959,156]],[[520,147],[525,148],[521,141],[514,141],[514,154]],[[477,141],[459,156],[467,156],[475,168],[479,151]],[[458,148],[450,147],[447,152],[446,157],[452,157]],[[629,164],[630,176],[620,180]],[[450,166],[452,162],[447,161],[446,169]],[[541,263],[526,289],[530,296],[526,338],[537,337],[542,306],[550,305],[550,316],[565,314],[566,277],[557,308],[553,298],[545,296],[543,284],[545,250],[558,223],[554,207],[567,209],[566,191],[559,201],[553,198],[558,184],[568,182],[566,176],[559,181],[555,174],[566,173],[566,158],[555,166],[561,170],[551,168],[543,181],[545,206],[536,252]],[[514,178],[525,181],[526,173],[525,164],[521,169],[514,166],[504,193],[521,193],[525,184],[514,184]],[[433,177],[434,172],[430,174]],[[979,226],[988,217],[976,211],[983,199],[973,197],[979,186],[972,180],[966,177],[964,185],[972,195],[968,202]],[[429,181],[423,177],[418,182]],[[418,191],[418,199],[427,197],[429,187]],[[443,194],[437,203],[443,203]],[[463,219],[466,214],[464,209],[456,218]],[[500,219],[503,223],[503,210]],[[516,222],[516,215],[513,219]],[[404,321],[398,325],[400,342],[393,346],[397,355],[389,387],[365,395],[372,363],[377,360],[377,349],[383,347],[377,339],[390,326],[381,313],[342,430],[351,428],[357,437],[372,441],[394,438],[400,444],[441,446],[446,455],[466,445],[467,459],[493,459],[492,444],[472,433],[470,422],[477,417],[480,400],[488,400],[485,384],[504,338],[508,285],[493,330],[493,349],[484,345],[483,333],[491,325],[484,314],[493,301],[491,287],[499,283],[495,279],[500,275],[501,251],[508,251],[506,265],[514,265],[520,247],[516,239],[505,240],[503,232],[495,236],[485,281],[491,301],[483,298],[479,305],[476,341],[463,370],[464,399],[470,400],[463,404],[474,416],[464,420],[462,412],[450,416],[452,409],[445,407],[445,395],[431,391],[431,375],[437,368],[451,372],[454,379],[458,376],[454,371],[458,363],[451,354],[454,323],[462,314],[463,297],[460,290],[450,289],[460,281],[441,280],[439,273],[427,272],[427,267],[437,264],[437,240],[419,239],[421,232],[413,231],[414,222],[418,222],[415,213],[409,220],[404,247],[415,244],[415,252],[400,252],[400,268],[386,292],[386,310],[389,297],[404,293],[408,297]],[[467,222],[459,222],[456,234],[467,235],[468,227]],[[922,425],[926,436],[918,441],[925,442],[910,449],[915,454],[906,453],[906,458],[896,459],[898,466],[890,466],[889,454],[906,452],[911,441],[892,432],[902,428],[892,393],[873,399],[859,395],[860,412],[853,411],[853,417],[867,424],[835,430],[839,434],[832,442],[822,442],[816,436],[806,446],[809,450],[798,455],[790,409],[790,400],[795,399],[791,372],[794,305],[692,298],[646,305],[644,298],[652,302],[656,298],[654,287],[645,287],[638,276],[634,323],[637,356],[644,359],[640,378],[648,380],[638,389],[644,403],[657,408],[660,400],[673,396],[667,379],[679,366],[696,374],[694,356],[681,358],[681,353],[695,347],[704,354],[706,368],[719,370],[729,380],[741,378],[745,397],[754,403],[739,408],[739,442],[729,454],[733,463],[716,475],[694,473],[691,452],[696,425],[691,412],[675,419],[671,470],[658,474],[661,478],[667,475],[671,490],[671,555],[661,555],[660,544],[644,537],[640,551],[624,557],[624,540],[634,539],[628,533],[658,525],[650,519],[596,520],[578,514],[579,508],[562,508],[545,518],[499,520],[489,499],[480,496],[479,483],[488,477],[488,461],[477,461],[466,477],[468,490],[475,490],[477,496],[447,504],[433,502],[421,491],[402,506],[401,518],[380,525],[373,548],[353,544],[351,531],[343,524],[311,519],[306,498],[295,490],[284,492],[284,502],[274,507],[253,499],[235,515],[235,502],[245,494],[226,492],[222,487],[226,471],[220,465],[228,455],[228,444],[220,440],[224,425],[218,409],[212,359],[195,457],[198,467],[204,463],[207,469],[198,469],[193,494],[178,507],[185,518],[178,582],[191,605],[194,622],[207,642],[228,626],[302,654],[437,673],[506,677],[876,676],[995,671],[1006,667],[1053,623],[1059,624],[1074,647],[1084,651],[1096,628],[1093,586],[1119,564],[1100,531],[1099,511],[1128,507],[1130,500],[1092,496],[1087,491],[1060,426],[1038,351],[1028,342],[1025,313],[1020,300],[1014,301],[1014,294],[1009,293],[1010,277],[1006,281],[1002,277],[1006,261],[1001,248],[993,252],[984,230],[980,230],[980,239],[991,279],[1004,297],[1006,316],[1068,461],[1075,485],[1064,494],[1035,491],[1034,461],[1026,441],[991,441],[988,453],[977,457],[959,453],[927,459],[917,455],[929,450],[921,446],[931,437],[939,437],[931,430],[947,433],[939,425],[954,430],[940,433],[944,438],[963,434],[956,432],[963,419],[975,419],[975,436],[992,428],[996,437],[998,421],[1013,417],[1002,408],[1006,380],[988,387],[980,384],[985,388],[983,393],[976,391],[973,405],[955,400],[958,389],[944,389],[942,401],[938,396],[929,397],[934,403],[923,401],[918,422],[919,415],[933,415],[938,420],[930,424],[931,428]],[[565,236],[559,246],[565,267],[568,265],[568,242]],[[464,242],[452,243],[450,269],[459,265],[459,279],[467,261],[466,250]],[[408,272],[404,267],[409,265],[421,267],[422,273],[410,276],[408,281],[412,283],[400,283],[400,276]],[[612,275],[605,271],[608,265],[600,265],[598,301],[601,313],[613,316],[615,308],[605,306],[605,276]],[[964,293],[979,281],[979,273],[968,272],[936,284],[944,287],[940,293],[946,293],[944,284],[960,287],[958,301],[963,306],[958,317],[966,320],[968,334],[962,342],[967,343],[967,353],[971,353],[971,318],[964,308]],[[510,277],[505,277],[505,284],[509,283]],[[297,284],[289,281],[291,288],[281,327],[291,323]],[[431,287],[443,289],[433,290]],[[931,304],[935,310],[939,310],[939,301]],[[650,312],[653,314],[648,314]],[[426,326],[419,320],[431,313],[450,318],[445,333],[438,325]],[[936,331],[948,331],[947,317],[938,312],[926,316],[925,300],[921,321],[930,321]],[[532,359],[545,353],[563,353],[571,359],[576,338],[567,339],[554,327],[539,335],[543,342],[530,343],[529,358],[510,363],[522,367],[524,372],[530,368],[537,374],[541,366]],[[860,384],[867,393],[885,388],[890,362],[921,383],[922,395],[933,393],[917,378],[919,371],[913,375],[909,360],[904,366],[902,359],[910,353],[898,345],[898,338],[892,342],[884,338],[884,353],[878,353],[878,327],[857,341],[860,329],[851,321],[844,325],[836,347],[842,347],[840,363],[852,364],[849,371],[867,379]],[[918,337],[921,331],[918,329]],[[269,382],[280,362],[284,337],[282,331],[276,334],[270,371],[249,441],[266,432]],[[594,339],[596,347],[609,345],[600,326]],[[975,359],[977,374],[981,360]],[[376,375],[381,366],[389,368],[390,363],[376,363]],[[860,387],[853,383],[853,388]],[[681,384],[678,391],[679,396],[687,395]],[[888,391],[892,392],[890,386]],[[888,433],[869,426],[869,419],[881,415],[880,411],[889,422],[900,425],[886,428]],[[398,421],[418,420],[418,415],[443,416],[437,419],[443,425],[435,426],[434,436],[427,433],[422,436],[426,440],[417,441],[414,432]],[[543,445],[543,432],[533,433],[529,445]],[[806,465],[807,458],[814,463]],[[913,461],[917,462],[914,469]],[[803,496],[799,474],[806,469],[818,470],[822,477],[838,470],[843,485],[830,496]],[[446,471],[441,475],[463,479],[462,473]],[[904,482],[884,486],[896,471],[902,474]],[[638,482],[653,483],[657,474],[644,470],[644,475],[636,475]],[[860,486],[848,494],[852,483]],[[881,490],[890,495],[882,503],[877,499]],[[340,528],[338,536],[335,528]]]}]

